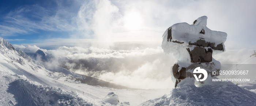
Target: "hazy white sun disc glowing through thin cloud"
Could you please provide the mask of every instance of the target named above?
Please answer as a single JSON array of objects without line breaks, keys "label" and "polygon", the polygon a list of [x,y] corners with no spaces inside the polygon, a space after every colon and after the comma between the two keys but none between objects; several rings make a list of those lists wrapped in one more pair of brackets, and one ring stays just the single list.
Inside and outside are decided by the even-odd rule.
[{"label": "hazy white sun disc glowing through thin cloud", "polygon": [[138,12],[130,12],[124,17],[124,27],[129,30],[138,30],[142,27],[142,18]]}]

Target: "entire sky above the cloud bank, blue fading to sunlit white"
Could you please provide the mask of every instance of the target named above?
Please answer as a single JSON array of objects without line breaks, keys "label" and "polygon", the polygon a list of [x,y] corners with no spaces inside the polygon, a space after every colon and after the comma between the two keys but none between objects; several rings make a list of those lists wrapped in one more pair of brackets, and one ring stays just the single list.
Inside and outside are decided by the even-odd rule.
[{"label": "entire sky above the cloud bank, blue fading to sunlit white", "polygon": [[255,49],[255,5],[255,0],[1,0],[0,37],[39,47],[114,41],[161,46],[168,27],[206,15],[209,29],[228,34],[227,49]]}]

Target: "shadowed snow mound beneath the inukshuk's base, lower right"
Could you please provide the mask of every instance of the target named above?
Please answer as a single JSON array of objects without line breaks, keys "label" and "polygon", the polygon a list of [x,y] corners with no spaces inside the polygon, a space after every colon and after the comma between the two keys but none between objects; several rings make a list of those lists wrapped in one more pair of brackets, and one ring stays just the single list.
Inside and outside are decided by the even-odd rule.
[{"label": "shadowed snow mound beneath the inukshuk's base, lower right", "polygon": [[[256,94],[231,83],[219,85],[191,85],[191,79],[182,80],[169,95],[147,101],[142,106],[256,106]],[[255,82],[252,84],[255,87]]]}]

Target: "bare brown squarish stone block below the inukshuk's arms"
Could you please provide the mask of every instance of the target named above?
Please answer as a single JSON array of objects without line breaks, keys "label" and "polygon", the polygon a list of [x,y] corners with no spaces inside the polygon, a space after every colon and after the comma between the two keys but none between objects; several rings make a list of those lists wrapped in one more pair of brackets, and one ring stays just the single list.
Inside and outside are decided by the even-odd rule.
[{"label": "bare brown squarish stone block below the inukshuk's arms", "polygon": [[195,47],[191,51],[189,48],[187,48],[187,50],[190,55],[191,63],[209,63],[212,61],[211,48],[205,49],[201,47]]}]

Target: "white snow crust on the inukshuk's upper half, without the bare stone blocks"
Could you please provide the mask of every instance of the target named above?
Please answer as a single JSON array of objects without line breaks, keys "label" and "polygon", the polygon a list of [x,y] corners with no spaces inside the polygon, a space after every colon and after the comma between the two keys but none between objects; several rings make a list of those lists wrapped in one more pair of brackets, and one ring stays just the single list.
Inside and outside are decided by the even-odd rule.
[{"label": "white snow crust on the inukshuk's upper half, without the bare stone blocks", "polygon": [[[162,49],[163,52],[169,54],[172,53],[173,57],[182,62],[190,62],[190,56],[187,53],[187,48],[193,50],[194,45],[189,45],[189,43],[195,43],[196,41],[203,39],[206,42],[214,43],[215,47],[222,43],[223,49],[225,51],[224,42],[226,41],[227,34],[221,31],[212,31],[208,29],[207,25],[207,16],[202,16],[196,19],[195,24],[188,23],[177,23],[169,27],[162,38]],[[171,29],[172,28],[172,29]],[[204,34],[199,32],[204,30]],[[172,30],[172,40],[167,41],[168,30]],[[180,43],[177,43],[178,41]],[[215,52],[215,50],[214,50]]]}]

